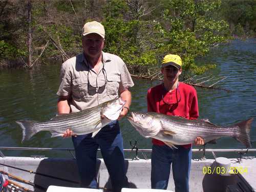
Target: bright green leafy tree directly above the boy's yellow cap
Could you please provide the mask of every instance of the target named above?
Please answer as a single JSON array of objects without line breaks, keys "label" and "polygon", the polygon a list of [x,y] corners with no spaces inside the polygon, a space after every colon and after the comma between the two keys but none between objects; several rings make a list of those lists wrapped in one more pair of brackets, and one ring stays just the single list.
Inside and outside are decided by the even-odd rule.
[{"label": "bright green leafy tree directly above the boy's yellow cap", "polygon": [[228,24],[215,15],[221,1],[168,1],[163,12],[163,38],[158,51],[178,54],[183,60],[183,75],[202,74],[214,65],[197,66],[195,59],[203,57],[212,45],[228,39]]}]

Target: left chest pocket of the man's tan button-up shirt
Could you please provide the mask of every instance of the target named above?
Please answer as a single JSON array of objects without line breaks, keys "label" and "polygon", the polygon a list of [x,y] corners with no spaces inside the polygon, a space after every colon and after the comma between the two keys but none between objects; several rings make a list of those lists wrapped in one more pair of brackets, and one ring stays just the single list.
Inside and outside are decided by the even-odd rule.
[{"label": "left chest pocket of the man's tan button-up shirt", "polygon": [[83,101],[91,98],[88,94],[88,79],[87,77],[77,77],[72,79],[72,97],[76,101]]}]

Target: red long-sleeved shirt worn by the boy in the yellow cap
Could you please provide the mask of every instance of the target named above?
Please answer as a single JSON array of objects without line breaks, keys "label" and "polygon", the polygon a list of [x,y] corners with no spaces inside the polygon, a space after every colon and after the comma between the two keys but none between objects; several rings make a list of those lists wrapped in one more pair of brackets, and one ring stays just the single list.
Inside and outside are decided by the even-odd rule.
[{"label": "red long-sleeved shirt worn by the boy in the yellow cap", "polygon": [[[179,82],[177,89],[167,92],[163,84],[159,84],[147,91],[147,111],[197,119],[199,117],[197,91],[194,87]],[[153,139],[152,142],[156,145],[165,145],[157,139]],[[183,146],[188,148],[191,145]]]}]

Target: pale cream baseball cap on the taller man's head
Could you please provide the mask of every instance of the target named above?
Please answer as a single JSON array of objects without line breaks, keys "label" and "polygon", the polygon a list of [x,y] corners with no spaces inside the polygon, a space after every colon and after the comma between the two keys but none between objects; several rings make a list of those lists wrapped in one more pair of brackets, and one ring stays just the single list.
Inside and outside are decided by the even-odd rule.
[{"label": "pale cream baseball cap on the taller man's head", "polygon": [[93,22],[88,22],[88,23],[84,24],[84,26],[82,28],[82,35],[86,36],[91,33],[97,33],[102,38],[105,38],[104,27],[99,22],[93,21]]}]

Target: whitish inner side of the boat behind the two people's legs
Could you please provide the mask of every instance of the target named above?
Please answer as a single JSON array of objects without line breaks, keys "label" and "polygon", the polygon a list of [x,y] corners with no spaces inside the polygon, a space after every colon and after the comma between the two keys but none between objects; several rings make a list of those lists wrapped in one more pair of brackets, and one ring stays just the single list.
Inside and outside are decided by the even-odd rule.
[{"label": "whitish inner side of the boat behind the two people's legs", "polygon": [[[204,167],[210,166],[212,162],[214,162],[214,159],[207,159],[203,161],[193,160],[191,164],[189,178],[190,191],[203,191],[203,185],[205,184],[203,182],[209,182],[209,178],[212,177],[212,174],[204,174],[203,170]],[[32,170],[33,172],[39,174],[45,174],[57,178],[79,182],[76,161],[71,158],[4,157],[0,158],[0,163],[26,170]],[[151,188],[151,160],[126,159],[125,164],[127,168],[126,175],[129,179],[129,184],[131,188]],[[97,178],[99,181],[99,187],[111,189],[111,182],[109,179],[108,170],[106,169],[103,160],[97,159],[97,165]],[[243,182],[247,181],[247,185],[251,188],[251,191],[254,191],[256,188],[256,185],[254,184],[256,178],[256,159],[244,159],[242,163],[231,164],[231,166],[247,167],[248,172],[243,174],[237,174],[235,179],[236,182],[241,182],[241,180],[244,180]],[[38,174],[31,174],[28,172],[24,172],[23,170],[18,170],[3,165],[0,165],[0,169],[44,188],[48,188],[50,185],[79,187],[78,183],[53,179]],[[17,183],[34,191],[45,191],[38,188],[33,188],[33,186],[28,184],[24,184],[21,182]],[[208,183],[206,184],[208,185]],[[175,191],[172,170],[170,173],[170,179],[167,189]]]}]

